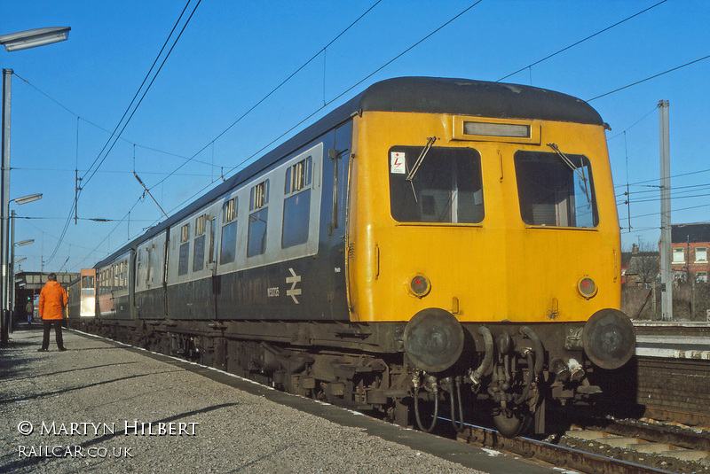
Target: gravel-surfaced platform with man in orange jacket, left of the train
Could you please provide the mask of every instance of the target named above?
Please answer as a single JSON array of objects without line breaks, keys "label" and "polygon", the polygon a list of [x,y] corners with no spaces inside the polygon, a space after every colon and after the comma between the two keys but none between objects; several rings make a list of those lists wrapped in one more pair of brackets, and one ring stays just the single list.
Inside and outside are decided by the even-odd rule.
[{"label": "gravel-surfaced platform with man in orange jacket, left of the train", "polygon": [[187,361],[38,325],[0,348],[0,472],[549,473]]}]

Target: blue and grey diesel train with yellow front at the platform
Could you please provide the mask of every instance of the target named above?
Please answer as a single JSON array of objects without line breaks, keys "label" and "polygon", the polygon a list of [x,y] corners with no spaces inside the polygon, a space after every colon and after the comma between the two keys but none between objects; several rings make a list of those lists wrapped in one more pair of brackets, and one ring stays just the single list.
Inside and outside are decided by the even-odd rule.
[{"label": "blue and grey diesel train with yellow front at the platform", "polygon": [[551,90],[377,82],[83,270],[70,325],[424,431],[541,432],[635,348],[605,128]]}]

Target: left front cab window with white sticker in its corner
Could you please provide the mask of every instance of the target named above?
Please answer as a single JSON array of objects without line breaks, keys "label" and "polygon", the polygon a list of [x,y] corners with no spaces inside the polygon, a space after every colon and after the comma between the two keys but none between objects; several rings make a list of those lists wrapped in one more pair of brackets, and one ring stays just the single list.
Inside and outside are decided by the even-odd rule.
[{"label": "left front cab window with white sticker in its corner", "polygon": [[481,155],[472,148],[396,146],[388,156],[390,212],[400,222],[483,221]]}]

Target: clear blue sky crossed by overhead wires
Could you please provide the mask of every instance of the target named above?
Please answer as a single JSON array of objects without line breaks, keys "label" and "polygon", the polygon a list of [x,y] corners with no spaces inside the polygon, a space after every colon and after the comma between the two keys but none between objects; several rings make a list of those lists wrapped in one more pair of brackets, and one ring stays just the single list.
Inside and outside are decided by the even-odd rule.
[{"label": "clear blue sky crossed by overhead wires", "polygon": [[[0,51],[0,65],[16,74],[11,198],[43,193],[40,201],[11,205],[18,216],[31,218],[17,221],[15,240],[36,240],[19,247],[16,258],[27,257],[21,268],[32,271],[91,267],[164,219],[134,170],[171,214],[281,136],[294,135],[383,79],[497,81],[524,69],[505,82],[590,100],[710,55],[710,2],[659,1],[483,0],[430,35],[476,2],[205,0],[106,155],[101,150],[110,131],[186,0],[8,0],[0,34],[72,27],[67,42]],[[185,17],[177,31],[184,25]],[[710,58],[590,101],[611,125],[607,138],[619,203],[631,183],[630,231],[627,206],[619,205],[622,245],[655,244],[659,237],[659,100],[670,102],[672,219],[710,221],[708,76]],[[99,171],[87,175],[91,163],[104,158]],[[72,219],[65,232],[76,168],[85,176],[79,221]]]}]

